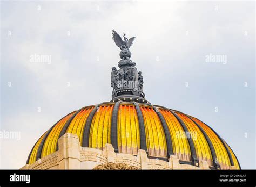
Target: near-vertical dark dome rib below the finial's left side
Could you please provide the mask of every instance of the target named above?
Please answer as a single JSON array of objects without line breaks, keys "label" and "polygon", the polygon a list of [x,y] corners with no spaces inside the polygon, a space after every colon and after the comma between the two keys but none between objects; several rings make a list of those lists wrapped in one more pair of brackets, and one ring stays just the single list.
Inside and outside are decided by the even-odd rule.
[{"label": "near-vertical dark dome rib below the finial's left side", "polygon": [[118,120],[118,109],[119,105],[122,103],[122,101],[116,102],[114,105],[114,109],[112,112],[112,118],[111,118],[111,143],[114,148],[114,152],[118,153],[118,145],[117,145],[117,120]]}]

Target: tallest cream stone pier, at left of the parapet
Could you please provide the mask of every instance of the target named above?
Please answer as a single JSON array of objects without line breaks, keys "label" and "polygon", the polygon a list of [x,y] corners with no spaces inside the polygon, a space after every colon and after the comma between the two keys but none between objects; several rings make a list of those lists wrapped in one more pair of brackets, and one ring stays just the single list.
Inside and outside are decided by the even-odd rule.
[{"label": "tallest cream stone pier, at left of the parapet", "polygon": [[58,141],[59,169],[80,169],[80,143],[76,134],[65,133]]}]

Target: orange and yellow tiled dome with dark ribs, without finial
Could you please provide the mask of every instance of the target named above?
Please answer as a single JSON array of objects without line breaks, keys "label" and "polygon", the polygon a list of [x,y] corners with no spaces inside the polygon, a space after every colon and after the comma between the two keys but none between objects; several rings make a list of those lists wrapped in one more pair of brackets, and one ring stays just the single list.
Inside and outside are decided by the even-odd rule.
[{"label": "orange and yellow tiled dome with dark ribs, without finial", "polygon": [[67,114],[39,138],[27,164],[56,152],[58,139],[72,133],[82,147],[102,150],[110,143],[116,153],[137,155],[144,149],[151,159],[177,155],[184,164],[198,166],[204,160],[210,169],[240,169],[230,146],[210,126],[182,112],[130,99],[85,106]]}]

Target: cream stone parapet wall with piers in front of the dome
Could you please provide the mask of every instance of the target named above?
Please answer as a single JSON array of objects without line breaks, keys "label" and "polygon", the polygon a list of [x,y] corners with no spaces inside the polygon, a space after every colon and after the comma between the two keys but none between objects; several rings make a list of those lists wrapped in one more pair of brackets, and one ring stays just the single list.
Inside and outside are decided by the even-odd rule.
[{"label": "cream stone parapet wall with piers in front of the dome", "polygon": [[137,155],[130,155],[115,153],[111,144],[103,150],[81,147],[78,136],[70,133],[59,139],[58,147],[57,152],[21,169],[210,169],[206,161],[201,161],[200,167],[180,164],[176,155],[171,155],[168,162],[149,159],[142,149]]}]

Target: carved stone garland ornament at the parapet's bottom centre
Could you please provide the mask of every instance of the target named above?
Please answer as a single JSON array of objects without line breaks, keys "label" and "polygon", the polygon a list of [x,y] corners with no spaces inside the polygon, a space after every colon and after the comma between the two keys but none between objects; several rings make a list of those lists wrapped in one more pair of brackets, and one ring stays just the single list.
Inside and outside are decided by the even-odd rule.
[{"label": "carved stone garland ornament at the parapet's bottom centre", "polygon": [[139,168],[137,168],[136,166],[130,166],[126,163],[108,162],[106,164],[98,165],[93,169],[97,169],[97,170],[125,170],[125,169],[138,170]]}]

